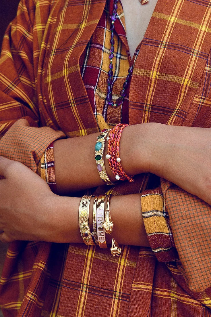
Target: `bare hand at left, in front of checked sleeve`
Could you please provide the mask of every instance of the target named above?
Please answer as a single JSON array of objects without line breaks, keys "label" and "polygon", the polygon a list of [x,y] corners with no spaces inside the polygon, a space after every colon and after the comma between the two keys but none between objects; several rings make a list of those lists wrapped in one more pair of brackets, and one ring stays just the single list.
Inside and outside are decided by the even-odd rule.
[{"label": "bare hand at left, in front of checked sleeve", "polygon": [[0,240],[51,241],[59,196],[28,167],[1,156],[0,175]]}]

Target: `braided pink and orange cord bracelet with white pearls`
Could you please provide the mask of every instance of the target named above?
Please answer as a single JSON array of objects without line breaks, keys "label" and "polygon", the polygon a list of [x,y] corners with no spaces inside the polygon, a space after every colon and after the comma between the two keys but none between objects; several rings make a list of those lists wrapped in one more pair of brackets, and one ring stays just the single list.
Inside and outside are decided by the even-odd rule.
[{"label": "braided pink and orange cord bracelet with white pearls", "polygon": [[111,130],[106,159],[109,160],[110,169],[115,175],[116,180],[128,180],[129,182],[133,182],[133,176],[128,176],[121,167],[121,159],[119,157],[121,133],[126,126],[128,126],[128,124],[119,123]]}]

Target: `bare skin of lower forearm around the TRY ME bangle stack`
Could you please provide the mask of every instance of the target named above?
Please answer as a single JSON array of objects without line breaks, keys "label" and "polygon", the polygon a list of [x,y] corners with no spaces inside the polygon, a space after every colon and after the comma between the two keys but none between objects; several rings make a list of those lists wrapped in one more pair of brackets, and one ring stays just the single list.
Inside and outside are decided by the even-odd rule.
[{"label": "bare skin of lower forearm around the TRY ME bangle stack", "polygon": [[[52,223],[52,235],[55,242],[81,243],[78,224],[78,208],[80,198],[57,196],[54,212],[55,219]],[[89,219],[92,231],[93,200],[90,202]],[[111,243],[112,238],[119,244],[149,246],[143,217],[140,207],[140,194],[113,196],[110,202],[110,213],[114,222],[114,230],[111,235],[106,235],[106,241]]]}]

